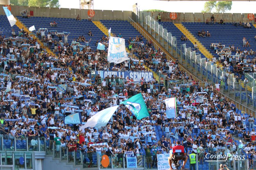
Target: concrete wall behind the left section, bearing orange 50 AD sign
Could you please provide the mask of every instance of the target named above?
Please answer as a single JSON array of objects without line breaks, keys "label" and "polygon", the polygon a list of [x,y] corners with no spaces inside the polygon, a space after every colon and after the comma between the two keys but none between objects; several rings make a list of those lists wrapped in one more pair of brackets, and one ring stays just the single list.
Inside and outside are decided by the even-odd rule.
[{"label": "concrete wall behind the left section, bearing orange 50 AD sign", "polygon": [[[2,5],[4,6],[4,5]],[[2,8],[2,7],[1,7]],[[80,18],[88,18],[88,10],[85,9],[68,9],[68,8],[47,8],[47,7],[28,7],[28,6],[12,6],[11,13],[14,17],[20,16],[20,11],[25,9],[33,11],[34,17],[56,17],[56,18],[76,18],[79,14]],[[108,10],[94,10],[95,16],[93,21],[106,20],[128,20],[132,18],[132,11],[108,11]],[[5,15],[4,10],[0,10],[0,15]]]}]

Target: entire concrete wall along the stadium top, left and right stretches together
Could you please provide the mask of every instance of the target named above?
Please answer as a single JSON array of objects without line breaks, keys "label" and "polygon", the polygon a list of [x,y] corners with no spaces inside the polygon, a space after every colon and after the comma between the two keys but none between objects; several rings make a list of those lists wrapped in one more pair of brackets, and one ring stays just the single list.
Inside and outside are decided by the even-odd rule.
[{"label": "entire concrete wall along the stadium top, left and right stretches together", "polygon": [[[1,5],[4,6],[4,5]],[[20,16],[20,11],[28,9],[33,11],[35,17],[57,17],[57,18],[76,18],[77,14],[82,19],[88,18],[88,10],[85,9],[68,9],[68,8],[47,8],[47,7],[28,7],[28,6],[12,6],[10,5],[13,16]],[[2,8],[2,7],[1,7]],[[105,20],[128,20],[128,17],[132,16],[132,11],[108,11],[108,10],[94,10],[95,16],[92,18],[93,21]],[[156,19],[159,12],[150,12],[150,16]],[[161,12],[162,21],[173,22],[174,24],[180,24],[181,22],[205,22],[211,18],[212,13],[182,13],[177,12],[177,19],[172,20],[170,18],[171,12]],[[0,15],[5,15],[4,10],[0,10]],[[222,18],[224,22],[249,22],[254,24],[254,20],[250,21],[247,18],[248,13],[214,13],[215,21],[219,22]],[[136,17],[135,17],[136,18]]]}]

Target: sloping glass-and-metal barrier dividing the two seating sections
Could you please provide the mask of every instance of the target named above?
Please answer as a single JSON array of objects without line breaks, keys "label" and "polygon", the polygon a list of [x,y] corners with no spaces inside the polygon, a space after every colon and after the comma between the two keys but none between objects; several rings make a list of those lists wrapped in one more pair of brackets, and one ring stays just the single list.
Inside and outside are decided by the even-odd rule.
[{"label": "sloping glass-and-metal barrier dividing the two seating sections", "polygon": [[[221,95],[224,95],[229,100],[235,101],[239,110],[248,114],[252,113],[254,117],[256,116],[254,111],[256,110],[255,84],[249,86],[248,84],[237,85],[234,80],[234,74],[229,74],[229,70],[222,70],[222,68],[215,63],[212,65],[211,61],[208,61],[207,58],[201,58],[201,55],[198,55],[196,51],[191,50],[190,47],[187,48],[186,44],[181,44],[181,47],[178,47],[177,37],[172,36],[172,33],[170,32],[167,33],[167,29],[163,28],[162,24],[159,24],[158,21],[151,17],[150,13],[143,11],[139,12],[139,15],[139,24],[146,29],[148,33],[155,38],[155,41],[158,41],[173,58],[177,58],[180,65],[184,66],[186,70],[199,79],[199,82],[203,80],[212,82],[213,85],[218,82],[220,84]],[[144,33],[137,23],[131,18],[129,18],[129,21],[136,29],[141,31],[143,36],[145,35],[148,37],[147,33]],[[156,47],[159,48],[158,46]],[[160,49],[162,48],[160,47]],[[252,88],[249,88],[250,86]]]}]

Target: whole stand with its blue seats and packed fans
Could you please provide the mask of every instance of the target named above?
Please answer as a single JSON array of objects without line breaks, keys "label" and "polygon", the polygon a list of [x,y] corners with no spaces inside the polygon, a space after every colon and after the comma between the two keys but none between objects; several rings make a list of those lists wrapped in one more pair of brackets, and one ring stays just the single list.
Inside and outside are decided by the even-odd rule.
[{"label": "whole stand with its blue seats and packed fans", "polygon": [[[125,162],[123,161],[124,152],[128,151],[135,152],[138,164],[142,166],[144,166],[144,155],[147,157],[149,154],[150,159],[147,158],[145,167],[157,168],[157,164],[155,164],[157,161],[156,150],[153,152],[151,150],[151,156],[151,153],[147,153],[147,149],[144,149],[143,146],[157,144],[157,147],[154,146],[152,149],[157,149],[160,153],[169,153],[177,139],[182,141],[187,153],[194,150],[200,158],[203,157],[202,162],[199,162],[199,169],[209,169],[209,164],[205,161],[209,159],[204,158],[206,153],[226,152],[236,155],[235,152],[239,152],[245,154],[249,147],[248,155],[253,158],[256,156],[255,145],[252,143],[252,141],[255,142],[253,129],[255,128],[255,119],[252,115],[242,114],[232,100],[228,101],[221,97],[217,90],[220,84],[196,82],[192,75],[180,70],[177,61],[167,60],[166,54],[156,49],[144,37],[138,38],[138,43],[135,43],[137,42],[136,37],[140,37],[141,34],[128,21],[101,20],[101,23],[107,29],[111,27],[112,33],[116,36],[120,33],[120,37],[126,40],[126,48],[130,49],[130,53],[132,53],[130,55],[132,64],[129,65],[129,69],[127,63],[110,65],[106,59],[106,51],[96,49],[97,42],[102,41],[103,43],[103,40],[107,41],[108,37],[105,40],[104,33],[91,21],[47,17],[22,18],[18,16],[17,18],[27,28],[35,25],[36,31],[39,28],[47,28],[48,31],[56,30],[51,31],[51,33],[53,32],[51,35],[54,36],[63,35],[63,32],[70,33],[68,43],[71,45],[74,42],[79,42],[82,46],[80,48],[79,46],[76,48],[76,45],[68,46],[63,42],[64,39],[60,41],[55,37],[58,51],[54,53],[54,48],[50,48],[52,55],[44,53],[46,49],[42,46],[35,48],[39,44],[36,39],[43,41],[41,36],[29,37],[28,33],[22,30],[25,39],[20,37],[6,39],[6,41],[0,39],[3,45],[1,45],[1,58],[5,58],[0,67],[2,72],[0,87],[7,91],[11,86],[9,92],[1,91],[0,132],[3,144],[0,144],[4,145],[4,149],[12,150],[15,147],[18,150],[26,150],[28,145],[28,150],[38,151],[41,144],[45,146],[46,152],[54,152],[56,157],[64,158],[63,160],[66,159],[67,162],[75,161],[82,164],[83,167],[91,168],[98,166],[97,154],[100,156],[111,155],[113,167],[123,167],[125,166],[123,165]],[[2,37],[11,36],[6,16],[0,16],[0,21],[4,24],[2,35],[5,37]],[[50,26],[52,21],[56,21],[58,27]],[[192,30],[193,34],[198,27],[202,29],[205,26],[204,23],[184,23],[184,25]],[[182,41],[178,37],[183,34],[180,30],[171,22],[164,22],[163,26],[168,31],[172,31],[178,39],[178,45],[181,46]],[[13,28],[16,33],[20,31],[17,26]],[[216,33],[217,29],[218,32],[220,30],[223,32]],[[235,32],[236,29],[239,29],[241,34],[239,32],[238,36],[231,37],[230,40],[221,38],[227,33]],[[88,35],[90,30],[93,36]],[[205,26],[204,30],[210,30],[211,38],[198,39],[206,47],[210,43],[218,42],[227,45],[234,43],[236,47],[240,48],[241,37],[239,38],[239,36],[245,34],[249,36],[249,33],[252,32],[244,28],[236,28],[228,23],[220,26]],[[230,30],[230,32],[224,30]],[[215,36],[215,34],[219,36]],[[80,41],[78,37],[82,35],[84,40],[91,41],[88,44]],[[250,36],[252,37],[252,34]],[[134,40],[129,43],[130,37]],[[24,41],[29,47],[19,47],[19,44],[13,40]],[[49,45],[49,40],[51,38],[47,37],[47,42],[43,41],[46,43],[46,48]],[[251,38],[248,40],[252,41]],[[194,47],[190,41],[186,41],[186,44]],[[106,42],[105,45],[107,46],[108,43]],[[255,43],[251,43],[251,47],[254,48]],[[200,51],[197,53],[201,54],[201,57],[205,57]],[[9,55],[10,59],[7,63],[6,58],[8,60]],[[148,82],[143,79],[134,82],[132,79],[100,77],[95,74],[95,71],[110,70],[147,72],[146,67],[160,72],[164,76],[154,77]],[[186,85],[181,85],[179,80],[185,82]],[[52,86],[63,85],[63,83],[68,84],[66,92],[52,90],[54,88]],[[198,97],[197,92],[205,93],[203,102],[197,102],[195,99]],[[150,114],[141,120],[137,120],[135,114],[132,114],[124,104],[120,104],[139,93],[144,97],[143,100]],[[167,119],[164,100],[172,97],[177,98],[178,116],[175,119]],[[25,100],[31,100],[31,102]],[[193,100],[195,101],[192,102]],[[63,104],[66,105],[63,106]],[[64,125],[63,123],[66,116],[75,112],[74,107],[70,105],[75,105],[75,108],[78,107],[79,110],[82,110],[80,111],[82,122],[85,123],[99,111],[119,104],[120,107],[106,127],[86,128],[79,131],[82,124]],[[245,133],[249,131],[249,134],[244,135],[244,131]],[[102,132],[104,133],[102,134]],[[233,134],[237,137],[234,138]],[[135,137],[131,137],[132,135]],[[187,138],[184,139],[184,137]],[[238,137],[244,138],[246,144],[236,140]],[[38,138],[40,144],[37,143]],[[194,143],[195,146],[193,146],[195,141],[198,143]],[[109,145],[102,144],[105,142]],[[225,144],[227,142],[229,143]],[[249,143],[248,147],[247,143]],[[96,145],[91,147],[90,144]],[[200,144],[202,144],[201,147]],[[233,166],[231,161],[229,166]],[[250,166],[254,165],[250,164]],[[189,161],[185,168],[188,167]]]}]

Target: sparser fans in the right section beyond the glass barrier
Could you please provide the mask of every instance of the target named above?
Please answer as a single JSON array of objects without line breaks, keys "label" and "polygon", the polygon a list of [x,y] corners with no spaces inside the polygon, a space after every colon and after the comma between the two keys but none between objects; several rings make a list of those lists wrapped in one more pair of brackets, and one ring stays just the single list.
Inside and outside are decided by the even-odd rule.
[{"label": "sparser fans in the right section beyond the glass barrier", "polygon": [[[206,19],[206,24],[215,24],[214,15],[211,17],[211,22]],[[219,24],[225,24],[222,19],[220,19]],[[243,26],[244,28],[252,28],[250,23],[239,23],[232,24],[236,27]],[[205,33],[204,30],[198,31],[197,33],[200,37],[211,37],[211,34],[207,31]],[[251,55],[255,55],[255,52],[251,48],[250,43],[244,37],[243,40],[243,48],[239,49],[234,45],[225,45],[221,43],[211,43],[210,48],[214,50],[213,58],[212,58],[212,65],[216,64],[219,61],[222,64],[222,70],[235,73],[238,76],[236,82],[239,82],[240,79],[244,80],[244,73],[255,72],[256,71],[256,57],[251,57]],[[196,48],[196,47],[195,47]],[[196,48],[197,49],[197,48]],[[216,55],[215,55],[216,54]]]}]

